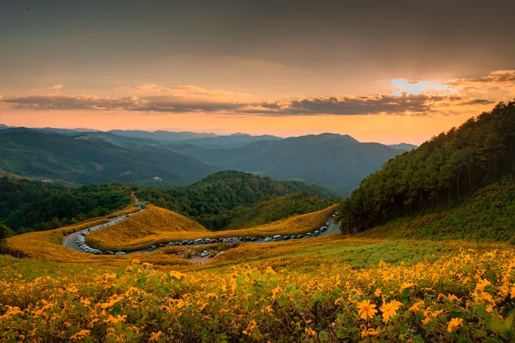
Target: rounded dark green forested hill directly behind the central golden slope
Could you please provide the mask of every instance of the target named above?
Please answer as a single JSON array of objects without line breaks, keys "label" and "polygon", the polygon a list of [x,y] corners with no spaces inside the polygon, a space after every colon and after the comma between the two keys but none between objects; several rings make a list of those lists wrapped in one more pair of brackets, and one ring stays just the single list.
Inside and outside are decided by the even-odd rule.
[{"label": "rounded dark green forested hill directly behind the central golden slope", "polygon": [[[336,193],[320,185],[301,181],[276,181],[268,176],[241,171],[219,171],[189,187],[175,189],[140,189],[138,198],[194,217],[211,229],[227,225],[227,211],[246,206],[270,196],[307,191],[312,196],[336,199]],[[224,213],[223,215],[220,215]]]}]

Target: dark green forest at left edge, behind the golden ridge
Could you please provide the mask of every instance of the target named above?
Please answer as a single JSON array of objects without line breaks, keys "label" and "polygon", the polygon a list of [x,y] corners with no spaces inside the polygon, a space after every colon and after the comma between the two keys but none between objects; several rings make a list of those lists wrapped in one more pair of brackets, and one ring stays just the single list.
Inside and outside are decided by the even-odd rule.
[{"label": "dark green forest at left edge, behind the golden ridge", "polygon": [[15,233],[74,224],[122,209],[130,203],[131,191],[119,183],[69,189],[41,181],[0,178],[0,224]]}]

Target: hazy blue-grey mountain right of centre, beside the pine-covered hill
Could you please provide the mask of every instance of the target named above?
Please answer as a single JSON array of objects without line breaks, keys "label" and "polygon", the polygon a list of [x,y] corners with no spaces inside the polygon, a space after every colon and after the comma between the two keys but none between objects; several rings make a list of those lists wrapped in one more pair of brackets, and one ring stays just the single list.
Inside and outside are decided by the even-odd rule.
[{"label": "hazy blue-grey mountain right of centre, beside the pine-covered hill", "polygon": [[192,144],[168,145],[175,152],[220,167],[264,174],[279,180],[302,179],[347,195],[393,156],[402,153],[379,143],[360,143],[340,134],[259,141],[235,149],[207,149]]}]

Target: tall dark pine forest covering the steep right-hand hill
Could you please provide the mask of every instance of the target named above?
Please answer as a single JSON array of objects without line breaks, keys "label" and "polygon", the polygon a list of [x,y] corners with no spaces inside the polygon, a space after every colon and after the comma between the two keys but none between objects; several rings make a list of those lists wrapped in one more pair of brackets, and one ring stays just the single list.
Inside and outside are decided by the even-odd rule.
[{"label": "tall dark pine forest covering the steep right-hand hill", "polygon": [[342,228],[367,229],[460,204],[480,187],[511,175],[514,163],[515,102],[501,102],[365,178],[342,204]]}]

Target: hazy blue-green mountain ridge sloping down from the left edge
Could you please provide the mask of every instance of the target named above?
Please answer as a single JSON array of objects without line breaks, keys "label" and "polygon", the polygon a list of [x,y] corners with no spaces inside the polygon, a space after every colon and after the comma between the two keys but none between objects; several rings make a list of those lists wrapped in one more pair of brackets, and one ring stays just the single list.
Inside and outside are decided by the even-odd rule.
[{"label": "hazy blue-green mountain ridge sloping down from the left edge", "polygon": [[24,177],[52,178],[81,185],[134,182],[155,176],[188,185],[217,171],[195,158],[146,145],[119,147],[101,139],[26,129],[0,131],[0,169]]}]

